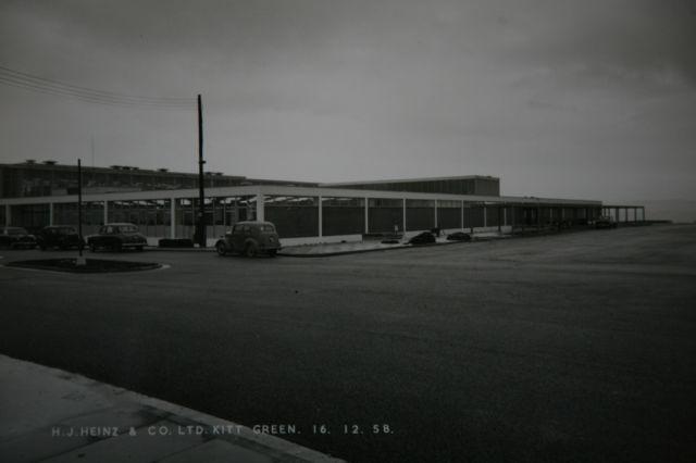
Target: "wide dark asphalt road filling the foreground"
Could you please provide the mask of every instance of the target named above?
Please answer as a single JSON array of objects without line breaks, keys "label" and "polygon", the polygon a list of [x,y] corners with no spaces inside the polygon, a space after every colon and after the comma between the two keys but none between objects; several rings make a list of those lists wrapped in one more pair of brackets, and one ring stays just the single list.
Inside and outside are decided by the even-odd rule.
[{"label": "wide dark asphalt road filling the foreground", "polygon": [[696,226],[111,256],[171,267],[0,268],[0,352],[350,461],[696,461]]}]

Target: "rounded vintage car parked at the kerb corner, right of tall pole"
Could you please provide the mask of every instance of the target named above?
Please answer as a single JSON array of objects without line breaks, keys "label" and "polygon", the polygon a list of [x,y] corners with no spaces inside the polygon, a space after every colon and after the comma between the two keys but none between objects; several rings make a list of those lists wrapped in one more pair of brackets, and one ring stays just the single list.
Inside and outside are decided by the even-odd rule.
[{"label": "rounded vintage car parked at the kerb corner, right of tall pole", "polygon": [[281,249],[281,240],[271,222],[237,222],[231,232],[215,243],[219,255],[238,253],[253,258],[265,253],[272,258]]}]

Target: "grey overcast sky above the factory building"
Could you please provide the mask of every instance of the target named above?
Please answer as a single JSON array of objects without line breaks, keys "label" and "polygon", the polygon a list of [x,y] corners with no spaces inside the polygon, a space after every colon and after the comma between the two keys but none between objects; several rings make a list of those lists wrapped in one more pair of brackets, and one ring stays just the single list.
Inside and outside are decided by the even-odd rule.
[{"label": "grey overcast sky above the factory building", "polygon": [[[696,198],[695,0],[0,0],[0,66],[202,93],[207,170],[494,175],[505,195]],[[0,78],[2,77],[0,72]],[[0,82],[0,161],[196,172],[195,105]]]}]

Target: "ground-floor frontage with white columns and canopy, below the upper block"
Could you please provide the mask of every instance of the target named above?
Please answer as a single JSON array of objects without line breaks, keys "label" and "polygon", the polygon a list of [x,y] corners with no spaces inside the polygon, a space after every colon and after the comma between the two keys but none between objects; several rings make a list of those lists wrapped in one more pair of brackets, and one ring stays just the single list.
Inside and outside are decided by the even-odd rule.
[{"label": "ground-floor frontage with white columns and canopy, below the upper block", "polygon": [[[192,238],[199,213],[197,197],[197,190],[87,195],[84,198],[84,233],[96,233],[104,222],[133,222],[150,237],[152,243],[157,243],[157,238],[164,237]],[[257,207],[257,198],[263,199],[262,209]],[[502,220],[502,207],[508,211],[505,226],[531,226],[537,223],[539,207],[545,217],[551,217],[548,210],[552,208],[552,221],[556,222],[560,220],[561,208],[566,214],[564,220],[571,221],[573,214],[582,214],[576,212],[579,209],[587,210],[585,214],[589,216],[594,211],[600,211],[601,203],[256,185],[209,189],[204,220],[208,241],[213,243],[234,223],[256,220],[257,214],[276,223],[284,240],[316,242],[362,236],[365,232],[365,215],[369,233],[394,233],[395,227],[403,233],[405,218],[410,234],[430,229],[436,223],[440,228],[449,230],[469,230],[473,227],[476,232],[497,232],[498,211],[500,210]],[[48,225],[51,210],[53,224],[76,225],[77,222],[74,196],[0,199],[0,209],[3,216],[9,215],[10,223],[17,226]],[[500,225],[505,229],[504,224]]]}]

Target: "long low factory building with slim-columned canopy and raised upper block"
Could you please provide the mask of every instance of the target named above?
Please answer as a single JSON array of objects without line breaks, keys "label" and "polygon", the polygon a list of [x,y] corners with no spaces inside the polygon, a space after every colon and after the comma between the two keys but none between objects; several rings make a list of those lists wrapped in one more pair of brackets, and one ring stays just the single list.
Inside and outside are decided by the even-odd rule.
[{"label": "long low factory building with slim-columned canopy and raised upper block", "polygon": [[[498,196],[499,179],[495,177],[239,184],[206,188],[204,217],[210,243],[245,220],[275,223],[284,243],[293,245],[358,240],[365,234],[408,235],[434,227],[505,233],[514,227],[558,223],[582,225],[607,213],[601,201]],[[372,185],[380,186],[372,189]],[[478,195],[478,189],[493,195]],[[197,188],[87,192],[83,195],[83,230],[90,235],[104,223],[130,222],[140,227],[151,243],[160,238],[191,238],[198,202]],[[638,220],[638,210],[643,212],[641,220],[645,220],[639,207],[626,207],[625,220],[629,208],[633,209],[633,220]],[[0,224],[30,230],[46,225],[75,225],[77,196],[1,198]]]}]

